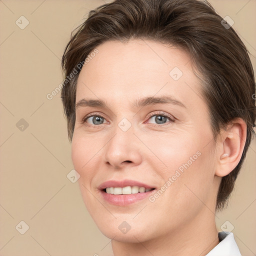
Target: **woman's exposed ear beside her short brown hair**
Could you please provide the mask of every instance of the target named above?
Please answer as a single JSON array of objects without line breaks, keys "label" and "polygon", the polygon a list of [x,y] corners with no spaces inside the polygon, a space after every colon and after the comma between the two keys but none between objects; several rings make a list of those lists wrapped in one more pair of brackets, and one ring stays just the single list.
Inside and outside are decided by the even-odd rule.
[{"label": "woman's exposed ear beside her short brown hair", "polygon": [[220,131],[217,141],[216,176],[226,176],[239,163],[246,141],[246,123],[241,118],[235,118],[224,130]]}]

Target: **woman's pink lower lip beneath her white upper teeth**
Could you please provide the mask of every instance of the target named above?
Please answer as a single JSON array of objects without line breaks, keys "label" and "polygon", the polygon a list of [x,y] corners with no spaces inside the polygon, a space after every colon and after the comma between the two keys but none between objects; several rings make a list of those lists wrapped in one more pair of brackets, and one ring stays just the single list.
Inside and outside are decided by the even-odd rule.
[{"label": "woman's pink lower lip beneath her white upper teeth", "polygon": [[145,199],[148,197],[151,193],[155,192],[155,189],[143,192],[143,193],[136,193],[136,194],[108,194],[103,190],[100,190],[104,200],[111,204],[115,205],[129,205],[134,202],[137,202],[139,200]]}]

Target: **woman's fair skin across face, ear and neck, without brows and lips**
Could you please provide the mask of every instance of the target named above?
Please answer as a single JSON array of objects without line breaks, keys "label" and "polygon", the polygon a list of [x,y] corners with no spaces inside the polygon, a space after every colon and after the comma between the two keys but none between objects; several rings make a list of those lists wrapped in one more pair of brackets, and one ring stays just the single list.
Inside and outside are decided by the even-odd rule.
[{"label": "woman's fair skin across face, ear and neck, without brows and lips", "polygon": [[[100,98],[108,107],[78,107],[71,144],[88,212],[112,239],[115,256],[206,255],[218,243],[218,186],[239,162],[246,124],[234,120],[214,144],[201,81],[184,51],[140,39],[107,41],[97,49],[79,73],[76,102]],[[178,80],[169,75],[173,67],[182,70]],[[135,99],[163,95],[185,107],[132,106]],[[174,122],[167,117],[157,123],[159,111],[173,116]],[[90,113],[102,116],[101,124],[93,123],[93,117],[83,122]],[[118,127],[123,118],[131,124],[127,131]],[[133,179],[160,189],[197,151],[200,156],[153,202],[145,198],[117,206],[101,197],[98,186],[110,179]],[[131,226],[125,234],[118,228],[123,221]]]}]

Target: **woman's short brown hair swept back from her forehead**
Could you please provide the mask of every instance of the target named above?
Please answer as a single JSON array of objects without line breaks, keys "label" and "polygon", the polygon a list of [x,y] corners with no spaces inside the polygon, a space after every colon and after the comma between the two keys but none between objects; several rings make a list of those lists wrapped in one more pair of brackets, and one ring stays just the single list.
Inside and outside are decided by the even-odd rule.
[{"label": "woman's short brown hair swept back from her forehead", "polygon": [[[77,63],[107,40],[151,39],[187,51],[203,81],[202,95],[208,105],[214,140],[220,128],[236,117],[242,118],[247,125],[241,159],[221,179],[217,209],[227,204],[255,121],[255,82],[247,49],[234,29],[223,26],[221,20],[207,1],[115,0],[91,10],[88,18],[72,31],[61,62],[68,76]],[[61,91],[70,141],[75,123],[78,74]]]}]

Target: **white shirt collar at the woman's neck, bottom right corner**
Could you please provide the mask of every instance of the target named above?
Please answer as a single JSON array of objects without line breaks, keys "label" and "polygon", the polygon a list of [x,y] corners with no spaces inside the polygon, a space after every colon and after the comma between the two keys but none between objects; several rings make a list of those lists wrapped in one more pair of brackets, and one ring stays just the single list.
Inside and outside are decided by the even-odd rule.
[{"label": "white shirt collar at the woman's neck, bottom right corner", "polygon": [[219,243],[205,256],[241,256],[232,232],[219,232]]}]

